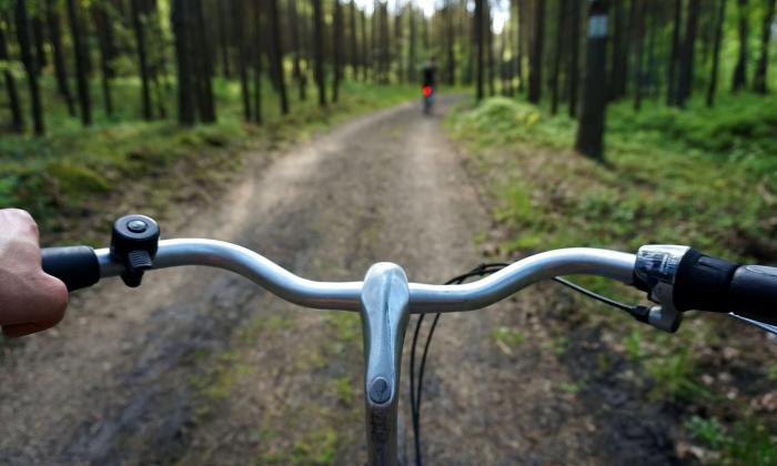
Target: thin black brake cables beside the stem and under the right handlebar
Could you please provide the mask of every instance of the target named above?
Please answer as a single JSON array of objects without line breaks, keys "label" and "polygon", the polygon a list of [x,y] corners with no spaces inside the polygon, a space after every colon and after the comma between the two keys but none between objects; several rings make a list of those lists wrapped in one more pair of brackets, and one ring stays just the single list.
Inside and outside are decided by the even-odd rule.
[{"label": "thin black brake cables beside the stem and under the right handlebar", "polygon": [[[504,262],[494,262],[494,263],[484,263],[475,269],[471,270],[470,272],[458,275],[456,277],[453,277],[445,282],[446,285],[458,285],[464,283],[466,280],[478,276],[486,276],[491,275],[495,272],[501,271],[502,269],[508,266],[508,263]],[[552,278],[554,282],[559,283],[577,293],[581,293],[587,297],[591,297],[593,300],[599,301],[604,304],[610,305],[613,307],[617,307],[620,311],[625,311],[628,313],[630,316],[636,318],[639,322],[647,322],[648,313],[649,313],[649,307],[643,306],[643,305],[632,305],[629,306],[628,304],[620,303],[618,301],[612,300],[609,297],[603,296],[598,293],[595,293],[591,290],[587,290],[578,284],[575,284],[573,282],[569,282],[566,278],[562,278],[559,276],[554,276]],[[428,333],[426,334],[426,343],[424,344],[424,350],[421,356],[421,365],[418,367],[418,379],[417,379],[417,385],[415,381],[415,351],[418,342],[418,334],[421,333],[421,326],[424,322],[424,316],[425,314],[418,314],[418,318],[415,321],[415,331],[413,332],[413,343],[411,345],[411,352],[410,352],[410,404],[411,404],[411,417],[412,417],[412,423],[413,423],[413,439],[414,439],[414,446],[415,446],[415,465],[416,466],[422,466],[422,460],[421,460],[421,394],[423,393],[423,386],[424,386],[424,371],[426,368],[426,355],[428,354],[428,347],[430,344],[432,343],[432,337],[434,336],[434,330],[437,327],[437,322],[440,321],[440,313],[434,314],[434,320],[432,321],[432,326],[428,330]]]}]

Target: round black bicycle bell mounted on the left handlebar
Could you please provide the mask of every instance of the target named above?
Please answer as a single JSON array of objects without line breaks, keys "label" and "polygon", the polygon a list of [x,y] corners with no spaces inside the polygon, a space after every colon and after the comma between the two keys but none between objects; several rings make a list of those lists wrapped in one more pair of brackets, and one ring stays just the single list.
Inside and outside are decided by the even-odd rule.
[{"label": "round black bicycle bell mounted on the left handlebar", "polygon": [[124,264],[121,280],[127,286],[140,286],[143,272],[153,266],[159,235],[159,225],[145,215],[124,215],[113,223],[111,256]]}]

